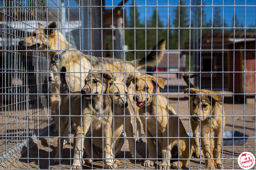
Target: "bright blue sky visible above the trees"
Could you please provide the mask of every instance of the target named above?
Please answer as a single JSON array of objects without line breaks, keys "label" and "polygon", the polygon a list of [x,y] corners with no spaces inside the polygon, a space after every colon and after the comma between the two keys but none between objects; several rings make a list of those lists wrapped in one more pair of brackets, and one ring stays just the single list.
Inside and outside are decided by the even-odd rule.
[{"label": "bright blue sky visible above the trees", "polygon": [[[185,5],[189,6],[189,3],[193,2],[193,0],[183,0]],[[121,2],[121,0],[105,0],[106,6],[118,5]],[[163,21],[164,25],[167,25],[168,18],[172,22],[173,20],[173,11],[176,7],[172,7],[173,5],[178,5],[179,0],[137,0],[135,1],[137,6],[161,6],[161,5],[169,5],[171,7],[157,7],[158,8],[158,14],[160,16],[160,19]],[[253,26],[255,27],[255,18],[256,18],[256,0],[202,0],[203,5],[210,6],[210,7],[202,7],[202,9],[205,11],[206,19],[207,21],[211,21],[212,17],[212,9],[213,13],[216,10],[216,7],[211,7],[211,5],[224,5],[225,7],[220,7],[221,9],[221,17],[223,12],[223,17],[225,22],[228,26],[231,26],[233,23],[233,16],[234,16],[234,10],[237,19],[239,20],[239,25],[245,26]],[[126,6],[133,5],[131,4],[132,0],[129,0],[126,2]],[[222,4],[223,3],[223,4]],[[244,7],[244,5],[247,5]],[[111,7],[109,7],[111,9]],[[137,7],[138,11],[140,12],[140,20],[145,21],[145,19],[150,19],[152,16],[152,12],[156,7]],[[128,8],[126,9],[127,16],[129,15]],[[187,12],[189,12],[189,7],[187,7]],[[168,15],[169,13],[169,15]],[[147,18],[145,18],[147,16]],[[245,22],[246,20],[246,22]]]}]

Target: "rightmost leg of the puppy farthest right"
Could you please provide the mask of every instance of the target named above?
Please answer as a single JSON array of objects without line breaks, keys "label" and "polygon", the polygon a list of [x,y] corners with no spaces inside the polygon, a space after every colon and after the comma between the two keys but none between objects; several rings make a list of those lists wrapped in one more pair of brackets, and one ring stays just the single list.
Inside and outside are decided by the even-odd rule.
[{"label": "rightmost leg of the puppy farthest right", "polygon": [[[214,131],[214,136],[215,137],[222,137],[222,126],[220,128],[216,128]],[[214,139],[214,149],[213,149],[213,158],[214,160],[214,166],[215,168],[222,168],[222,163],[220,160],[220,150],[221,150],[221,145],[222,145],[222,138],[215,138]]]}]

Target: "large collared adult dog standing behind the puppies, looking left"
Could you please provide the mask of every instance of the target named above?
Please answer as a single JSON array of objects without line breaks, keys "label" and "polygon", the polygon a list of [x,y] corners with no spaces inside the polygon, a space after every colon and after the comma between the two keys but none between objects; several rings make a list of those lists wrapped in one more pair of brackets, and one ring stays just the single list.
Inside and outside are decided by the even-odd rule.
[{"label": "large collared adult dog standing behind the puppies, looking left", "polygon": [[[57,24],[55,22],[46,27],[40,23],[38,24],[39,29],[33,31],[31,36],[21,40],[19,45],[28,50],[44,50],[41,52],[50,60],[50,69],[55,72],[54,76],[57,84],[59,84],[58,72],[63,66],[69,72],[72,72],[70,73],[70,79],[69,75],[66,75],[66,80],[68,84],[70,83],[70,90],[72,92],[81,90],[81,87],[84,85],[83,80],[90,69],[114,71],[116,72],[116,79],[122,80],[125,78],[122,72],[126,72],[125,76],[127,76],[129,72],[137,72],[138,69],[145,67],[145,64],[147,66],[155,66],[157,64],[156,61],[160,62],[165,52],[165,40],[163,39],[159,41],[148,56],[132,61],[84,55],[81,51],[73,48],[65,37],[57,31]],[[58,57],[58,53],[61,57]],[[131,85],[129,88],[134,89],[134,86]],[[128,101],[130,101],[134,109],[131,95],[128,96]],[[138,137],[141,136],[141,127],[139,119],[136,120],[138,126],[136,128],[136,136]],[[139,140],[139,138],[136,138],[136,140]]]}]

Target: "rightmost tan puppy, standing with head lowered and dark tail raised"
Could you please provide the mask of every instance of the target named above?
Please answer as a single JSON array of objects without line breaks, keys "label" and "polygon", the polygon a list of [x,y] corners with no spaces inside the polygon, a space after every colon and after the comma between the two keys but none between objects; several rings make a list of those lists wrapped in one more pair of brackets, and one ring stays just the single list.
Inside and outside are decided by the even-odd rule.
[{"label": "rightmost tan puppy, standing with head lowered and dark tail raised", "polygon": [[[191,88],[185,89],[184,93],[190,95],[190,115],[193,132],[196,158],[200,158],[200,142],[198,138],[198,128],[201,124],[201,142],[205,159],[206,169],[222,168],[220,151],[222,145],[222,130],[225,127],[225,112],[223,109],[223,95],[210,90],[199,90],[192,83],[189,83],[189,76],[183,74],[183,79]],[[197,95],[198,94],[198,95]],[[214,131],[214,140],[211,140]],[[212,145],[211,145],[212,144]],[[211,153],[212,150],[212,153]],[[214,158],[215,160],[211,160]]]}]

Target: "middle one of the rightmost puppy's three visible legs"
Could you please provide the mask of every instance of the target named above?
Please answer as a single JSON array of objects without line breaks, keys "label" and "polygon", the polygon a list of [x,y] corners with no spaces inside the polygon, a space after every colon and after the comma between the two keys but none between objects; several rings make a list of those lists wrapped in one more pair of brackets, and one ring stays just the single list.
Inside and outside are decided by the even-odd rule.
[{"label": "middle one of the rightmost puppy's three visible legs", "polygon": [[215,169],[214,161],[211,159],[212,158],[211,139],[208,138],[208,137],[210,137],[210,133],[211,132],[204,132],[201,130],[201,136],[203,137],[201,139],[202,146],[203,146],[203,153],[204,153],[204,157],[206,158],[205,159],[205,169]]}]

